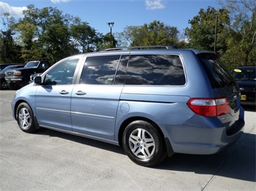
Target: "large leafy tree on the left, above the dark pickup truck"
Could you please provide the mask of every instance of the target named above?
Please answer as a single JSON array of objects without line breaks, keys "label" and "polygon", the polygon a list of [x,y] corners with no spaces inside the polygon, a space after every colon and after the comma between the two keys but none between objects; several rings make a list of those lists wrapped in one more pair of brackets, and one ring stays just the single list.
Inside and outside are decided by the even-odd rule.
[{"label": "large leafy tree on the left, above the dark pickup truck", "polygon": [[22,58],[29,60],[49,60],[54,63],[63,57],[78,52],[71,42],[69,24],[72,17],[53,7],[37,9],[27,6],[24,18],[13,24],[19,44],[22,46]]}]

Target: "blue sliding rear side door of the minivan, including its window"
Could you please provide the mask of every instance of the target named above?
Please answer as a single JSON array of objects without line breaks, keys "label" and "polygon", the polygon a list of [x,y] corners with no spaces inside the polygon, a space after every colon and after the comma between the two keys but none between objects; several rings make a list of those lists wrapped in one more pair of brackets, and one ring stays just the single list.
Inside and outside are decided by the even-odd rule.
[{"label": "blue sliding rear side door of the minivan, including its window", "polygon": [[[119,62],[125,65],[123,74],[116,74]],[[101,140],[114,139],[115,117],[127,62],[128,55],[87,57],[79,84],[74,86],[71,95],[74,132]]]}]

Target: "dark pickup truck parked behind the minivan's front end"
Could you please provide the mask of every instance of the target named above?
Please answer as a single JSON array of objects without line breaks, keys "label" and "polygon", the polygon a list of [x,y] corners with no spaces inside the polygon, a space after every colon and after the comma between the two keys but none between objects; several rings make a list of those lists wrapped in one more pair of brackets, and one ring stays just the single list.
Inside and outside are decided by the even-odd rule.
[{"label": "dark pickup truck parked behind the minivan's front end", "polygon": [[5,80],[9,89],[16,90],[30,83],[30,75],[35,73],[43,73],[50,67],[48,61],[30,61],[25,67],[7,70]]}]

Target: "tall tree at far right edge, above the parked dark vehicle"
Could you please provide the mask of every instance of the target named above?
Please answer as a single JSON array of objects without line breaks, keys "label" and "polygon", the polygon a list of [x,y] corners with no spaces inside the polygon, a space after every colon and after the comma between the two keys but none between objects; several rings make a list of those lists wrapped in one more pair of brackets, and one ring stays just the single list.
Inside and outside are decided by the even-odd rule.
[{"label": "tall tree at far right edge, above the parked dark vehicle", "polygon": [[231,15],[228,50],[221,58],[230,67],[256,65],[256,1],[220,0]]}]

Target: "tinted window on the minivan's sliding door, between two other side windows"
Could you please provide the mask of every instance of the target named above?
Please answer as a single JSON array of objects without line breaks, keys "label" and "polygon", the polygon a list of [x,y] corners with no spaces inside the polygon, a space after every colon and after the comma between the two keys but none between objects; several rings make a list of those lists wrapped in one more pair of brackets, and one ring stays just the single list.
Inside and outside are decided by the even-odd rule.
[{"label": "tinted window on the minivan's sliding door, between two other side windows", "polygon": [[120,55],[87,57],[81,73],[81,84],[114,84]]}]

